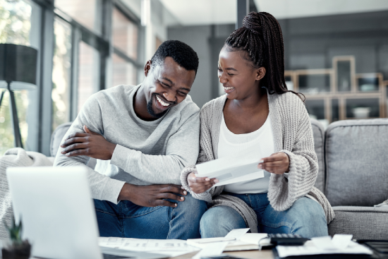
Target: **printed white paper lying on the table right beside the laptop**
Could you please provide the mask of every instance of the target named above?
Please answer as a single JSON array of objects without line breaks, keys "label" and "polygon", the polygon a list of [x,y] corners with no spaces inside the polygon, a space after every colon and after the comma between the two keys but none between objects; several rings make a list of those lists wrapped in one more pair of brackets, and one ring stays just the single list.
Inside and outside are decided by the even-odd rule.
[{"label": "printed white paper lying on the table right beside the laptop", "polygon": [[198,248],[187,244],[186,240],[179,239],[126,239],[116,237],[100,237],[99,246],[119,248],[128,251],[142,251],[159,253],[175,257],[198,251]]}]

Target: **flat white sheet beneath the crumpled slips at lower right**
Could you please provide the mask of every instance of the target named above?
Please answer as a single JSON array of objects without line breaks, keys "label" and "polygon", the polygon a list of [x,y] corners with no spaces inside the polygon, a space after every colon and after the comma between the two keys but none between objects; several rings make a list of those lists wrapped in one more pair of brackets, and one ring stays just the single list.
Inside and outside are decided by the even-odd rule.
[{"label": "flat white sheet beneath the crumpled slips at lower right", "polygon": [[372,255],[372,251],[369,248],[353,241],[344,249],[318,248],[313,241],[307,241],[303,246],[277,246],[277,252],[281,258],[296,255],[322,255],[332,253]]}]

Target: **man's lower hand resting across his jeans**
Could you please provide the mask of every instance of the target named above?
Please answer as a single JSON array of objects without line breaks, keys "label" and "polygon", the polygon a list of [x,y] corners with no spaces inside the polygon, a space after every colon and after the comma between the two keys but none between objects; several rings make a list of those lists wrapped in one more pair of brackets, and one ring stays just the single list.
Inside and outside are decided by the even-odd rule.
[{"label": "man's lower hand resting across his jeans", "polygon": [[150,186],[135,186],[131,183],[124,183],[118,200],[130,200],[132,203],[143,207],[168,206],[176,207],[177,203],[169,200],[183,201],[187,191],[176,184],[152,184]]}]

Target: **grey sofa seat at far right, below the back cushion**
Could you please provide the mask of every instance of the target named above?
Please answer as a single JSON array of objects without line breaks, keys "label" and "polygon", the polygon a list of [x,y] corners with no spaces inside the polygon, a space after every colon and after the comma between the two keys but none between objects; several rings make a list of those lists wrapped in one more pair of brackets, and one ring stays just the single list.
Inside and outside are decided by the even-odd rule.
[{"label": "grey sofa seat at far right, below the back cushion", "polygon": [[329,224],[329,235],[352,234],[353,239],[388,240],[388,208],[333,207],[336,217]]}]

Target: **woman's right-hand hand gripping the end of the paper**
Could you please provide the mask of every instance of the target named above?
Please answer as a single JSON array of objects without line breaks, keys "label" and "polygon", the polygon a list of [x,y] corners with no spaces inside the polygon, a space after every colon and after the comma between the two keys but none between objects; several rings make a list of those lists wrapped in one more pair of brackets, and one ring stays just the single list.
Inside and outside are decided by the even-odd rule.
[{"label": "woman's right-hand hand gripping the end of the paper", "polygon": [[262,159],[257,168],[269,171],[272,174],[284,174],[289,171],[290,159],[284,152],[277,152]]}]

